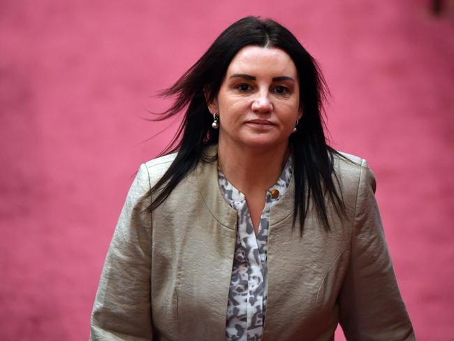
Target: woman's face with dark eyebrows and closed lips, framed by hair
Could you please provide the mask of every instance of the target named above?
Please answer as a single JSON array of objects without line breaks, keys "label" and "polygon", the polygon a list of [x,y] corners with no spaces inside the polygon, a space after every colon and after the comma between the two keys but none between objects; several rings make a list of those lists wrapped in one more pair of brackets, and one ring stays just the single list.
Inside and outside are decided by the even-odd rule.
[{"label": "woman's face with dark eyebrows and closed lips, framed by hair", "polygon": [[219,143],[286,148],[300,119],[295,64],[278,48],[246,46],[232,59],[211,113],[219,116]]}]

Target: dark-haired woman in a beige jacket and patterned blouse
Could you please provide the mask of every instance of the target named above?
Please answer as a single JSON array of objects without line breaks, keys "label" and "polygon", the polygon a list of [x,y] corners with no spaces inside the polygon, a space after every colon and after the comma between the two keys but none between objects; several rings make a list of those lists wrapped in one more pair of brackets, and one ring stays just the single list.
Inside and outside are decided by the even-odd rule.
[{"label": "dark-haired woman in a beige jacket and patterned blouse", "polygon": [[272,20],[228,27],[166,95],[170,154],[119,218],[91,340],[414,340],[365,160],[325,143],[325,83]]}]

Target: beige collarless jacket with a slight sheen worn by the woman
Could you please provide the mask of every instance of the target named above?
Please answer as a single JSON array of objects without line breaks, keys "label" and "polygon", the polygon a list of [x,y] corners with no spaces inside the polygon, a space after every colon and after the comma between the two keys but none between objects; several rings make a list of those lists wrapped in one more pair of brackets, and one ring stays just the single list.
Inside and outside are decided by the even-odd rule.
[{"label": "beige collarless jacket with a slight sheen worn by the woman", "polygon": [[[212,148],[210,153],[216,153]],[[294,183],[271,208],[263,341],[415,340],[402,302],[366,161],[336,159],[349,210],[328,208],[326,232],[310,208],[292,228]],[[175,154],[142,164],[105,259],[90,340],[225,340],[237,213],[200,162],[152,214],[144,194]]]}]

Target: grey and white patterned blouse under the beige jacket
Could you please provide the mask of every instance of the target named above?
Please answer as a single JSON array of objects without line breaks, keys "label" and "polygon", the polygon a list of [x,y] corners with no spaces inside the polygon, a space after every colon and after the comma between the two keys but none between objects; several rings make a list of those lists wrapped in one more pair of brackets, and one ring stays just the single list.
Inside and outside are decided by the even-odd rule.
[{"label": "grey and white patterned blouse under the beige jacket", "polygon": [[276,184],[266,193],[265,208],[254,232],[244,194],[235,189],[218,168],[219,187],[237,211],[237,242],[228,293],[226,339],[259,341],[262,338],[268,296],[268,222],[270,208],[284,195],[291,180],[293,161],[288,158]]}]

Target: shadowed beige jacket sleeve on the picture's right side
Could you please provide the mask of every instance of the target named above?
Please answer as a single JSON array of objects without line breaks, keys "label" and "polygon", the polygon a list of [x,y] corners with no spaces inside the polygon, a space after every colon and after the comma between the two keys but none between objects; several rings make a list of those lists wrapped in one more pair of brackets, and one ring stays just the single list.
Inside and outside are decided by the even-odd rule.
[{"label": "shadowed beige jacket sleeve on the picture's right side", "polygon": [[351,240],[351,259],[339,293],[347,340],[415,340],[395,279],[375,200],[375,177],[362,162]]}]

